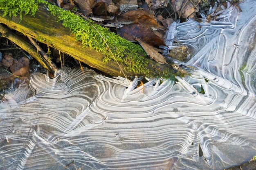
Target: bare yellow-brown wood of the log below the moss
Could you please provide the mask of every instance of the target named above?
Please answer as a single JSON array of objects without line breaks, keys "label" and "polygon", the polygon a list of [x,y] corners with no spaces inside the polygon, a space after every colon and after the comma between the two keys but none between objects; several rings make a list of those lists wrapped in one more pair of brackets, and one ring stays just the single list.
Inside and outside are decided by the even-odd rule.
[{"label": "bare yellow-brown wood of the log below the moss", "polygon": [[[57,17],[51,15],[43,7],[38,8],[35,16],[22,16],[22,21],[20,17],[2,16],[3,13],[0,11],[0,23],[7,25],[9,28],[69,54],[71,57],[102,72],[112,76],[124,76],[119,65],[114,60],[103,63],[102,61],[106,57],[104,54],[97,50],[83,47],[81,41],[76,41],[70,29],[65,28],[61,22],[58,22]],[[146,63],[148,63],[145,67],[148,67],[148,69],[153,72],[155,72],[155,70],[158,72],[166,72],[166,70],[172,69],[170,65],[159,64],[150,58],[145,58],[145,60],[147,61]],[[121,64],[121,68],[127,76],[135,76],[134,72],[125,70],[125,67],[125,65]],[[141,75],[144,76],[145,74],[141,73]]]}]

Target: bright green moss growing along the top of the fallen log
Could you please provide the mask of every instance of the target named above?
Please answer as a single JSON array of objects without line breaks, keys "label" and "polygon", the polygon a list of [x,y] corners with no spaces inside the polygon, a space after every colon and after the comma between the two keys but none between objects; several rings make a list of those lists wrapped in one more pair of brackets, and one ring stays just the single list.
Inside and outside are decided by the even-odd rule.
[{"label": "bright green moss growing along the top of the fallen log", "polygon": [[[103,62],[114,60],[114,55],[119,63],[126,66],[125,70],[133,71],[135,74],[171,78],[173,80],[175,75],[178,74],[178,72],[174,73],[174,70],[165,69],[161,72],[157,68],[150,68],[150,61],[146,59],[147,54],[141,46],[110,32],[108,28],[94,24],[92,20],[84,20],[83,17],[70,11],[65,11],[45,0],[4,0],[4,3],[0,4],[0,10],[4,12],[4,15],[11,17],[16,16],[18,13],[22,18],[22,15],[28,13],[34,15],[39,3],[44,4],[52,15],[57,16],[58,21],[62,21],[63,26],[70,28],[76,40],[81,41],[84,47],[90,47],[103,53],[106,56]],[[105,39],[113,55],[103,39]],[[42,37],[38,37],[38,41],[48,43],[47,39]]]}]

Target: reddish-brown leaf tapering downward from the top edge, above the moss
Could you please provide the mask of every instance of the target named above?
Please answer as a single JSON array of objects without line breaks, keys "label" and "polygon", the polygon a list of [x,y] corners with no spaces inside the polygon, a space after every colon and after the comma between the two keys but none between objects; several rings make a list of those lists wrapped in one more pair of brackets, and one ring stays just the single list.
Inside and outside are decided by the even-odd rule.
[{"label": "reddish-brown leaf tapering downward from the top edge, above the moss", "polygon": [[92,14],[94,0],[74,0],[74,3],[81,9],[81,13],[88,16]]}]

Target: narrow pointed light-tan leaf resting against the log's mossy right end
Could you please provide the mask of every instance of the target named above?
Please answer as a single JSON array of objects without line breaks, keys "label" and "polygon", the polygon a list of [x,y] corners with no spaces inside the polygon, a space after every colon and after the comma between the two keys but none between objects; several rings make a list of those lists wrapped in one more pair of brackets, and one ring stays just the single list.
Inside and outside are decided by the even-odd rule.
[{"label": "narrow pointed light-tan leaf resting against the log's mossy right end", "polygon": [[135,38],[139,44],[142,46],[142,48],[146,51],[146,53],[148,54],[148,56],[157,61],[158,63],[160,64],[164,64],[166,63],[165,59],[164,59],[164,56],[162,56],[161,54],[158,53],[158,50],[157,48],[154,48],[153,46],[150,46],[146,43],[144,43],[143,41],[141,41],[140,39],[138,38]]}]

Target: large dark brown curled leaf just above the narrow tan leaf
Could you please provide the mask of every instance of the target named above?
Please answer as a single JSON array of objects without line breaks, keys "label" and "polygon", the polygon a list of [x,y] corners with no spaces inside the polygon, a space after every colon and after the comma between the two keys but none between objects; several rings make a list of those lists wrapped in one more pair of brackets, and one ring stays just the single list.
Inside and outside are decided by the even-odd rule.
[{"label": "large dark brown curled leaf just above the narrow tan leaf", "polygon": [[134,41],[134,37],[138,37],[150,45],[157,47],[164,46],[162,37],[155,35],[150,28],[141,24],[130,24],[123,26],[117,30],[117,33],[129,41]]}]

